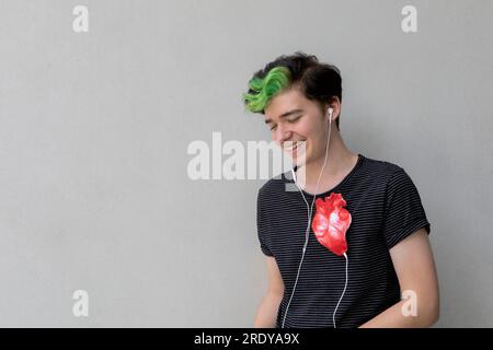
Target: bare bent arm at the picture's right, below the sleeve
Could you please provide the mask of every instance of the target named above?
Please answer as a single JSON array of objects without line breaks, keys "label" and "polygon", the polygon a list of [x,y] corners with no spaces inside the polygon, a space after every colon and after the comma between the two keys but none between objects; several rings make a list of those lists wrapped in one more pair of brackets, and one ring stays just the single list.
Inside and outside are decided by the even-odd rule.
[{"label": "bare bent arm at the picture's right, below the sleeve", "polygon": [[416,315],[404,316],[402,306],[410,300],[383,311],[360,326],[367,327],[429,327],[439,316],[438,278],[425,229],[421,229],[390,249],[399,278],[401,293],[412,290],[416,295]]}]

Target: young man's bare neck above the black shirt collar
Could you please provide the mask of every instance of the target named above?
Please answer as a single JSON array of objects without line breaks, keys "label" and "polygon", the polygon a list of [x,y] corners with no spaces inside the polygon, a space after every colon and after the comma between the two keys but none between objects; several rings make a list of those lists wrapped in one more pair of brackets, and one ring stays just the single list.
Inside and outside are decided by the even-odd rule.
[{"label": "young man's bare neck above the black shirt collar", "polygon": [[[351,150],[344,144],[339,130],[334,128],[331,135],[325,167],[320,175],[324,159],[325,150],[321,152],[321,155],[318,159],[311,160],[305,165],[305,172],[297,172],[297,175],[299,174],[298,182],[305,184],[303,190],[313,194],[314,191],[322,192],[333,188],[356,165],[358,155],[351,152]],[[317,188],[319,176],[320,183]]]}]

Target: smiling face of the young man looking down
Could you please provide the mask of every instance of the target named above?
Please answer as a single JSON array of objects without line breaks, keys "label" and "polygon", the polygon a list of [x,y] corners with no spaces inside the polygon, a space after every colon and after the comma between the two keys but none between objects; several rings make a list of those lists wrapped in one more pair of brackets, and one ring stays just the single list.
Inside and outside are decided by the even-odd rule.
[{"label": "smiling face of the young man looking down", "polygon": [[[291,156],[295,164],[299,164],[303,152],[306,164],[324,156],[329,119],[319,104],[305,97],[299,90],[291,89],[276,95],[264,113],[273,140]],[[291,142],[288,141],[305,141],[305,148],[290,149]]]}]

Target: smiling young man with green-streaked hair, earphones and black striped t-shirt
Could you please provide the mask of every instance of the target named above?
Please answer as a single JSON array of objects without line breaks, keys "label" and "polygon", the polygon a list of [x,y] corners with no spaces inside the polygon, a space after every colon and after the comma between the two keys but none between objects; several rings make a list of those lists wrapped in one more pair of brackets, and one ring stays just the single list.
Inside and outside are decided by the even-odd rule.
[{"label": "smiling young man with green-streaked hair, earphones and black striped t-shirt", "polygon": [[[420,195],[399,165],[345,145],[341,100],[337,68],[302,52],[266,65],[243,94],[246,108],[264,115],[273,140],[296,164],[295,176],[282,174],[259,190],[268,290],[254,327],[431,326],[439,295]],[[303,147],[290,148],[295,141]],[[286,190],[295,180],[303,187]],[[344,256],[313,232],[316,207],[309,205],[332,194],[351,214],[339,237]]]}]

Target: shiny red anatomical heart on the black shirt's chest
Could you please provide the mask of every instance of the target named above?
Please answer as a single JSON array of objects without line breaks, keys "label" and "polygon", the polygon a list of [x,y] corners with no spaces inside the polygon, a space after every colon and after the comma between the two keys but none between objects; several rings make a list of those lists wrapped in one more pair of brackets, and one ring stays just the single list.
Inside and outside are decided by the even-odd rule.
[{"label": "shiny red anatomical heart on the black shirt's chest", "polygon": [[311,223],[317,240],[335,255],[347,252],[346,231],[351,213],[343,207],[346,201],[341,194],[331,194],[324,200],[316,200],[317,212]]}]

